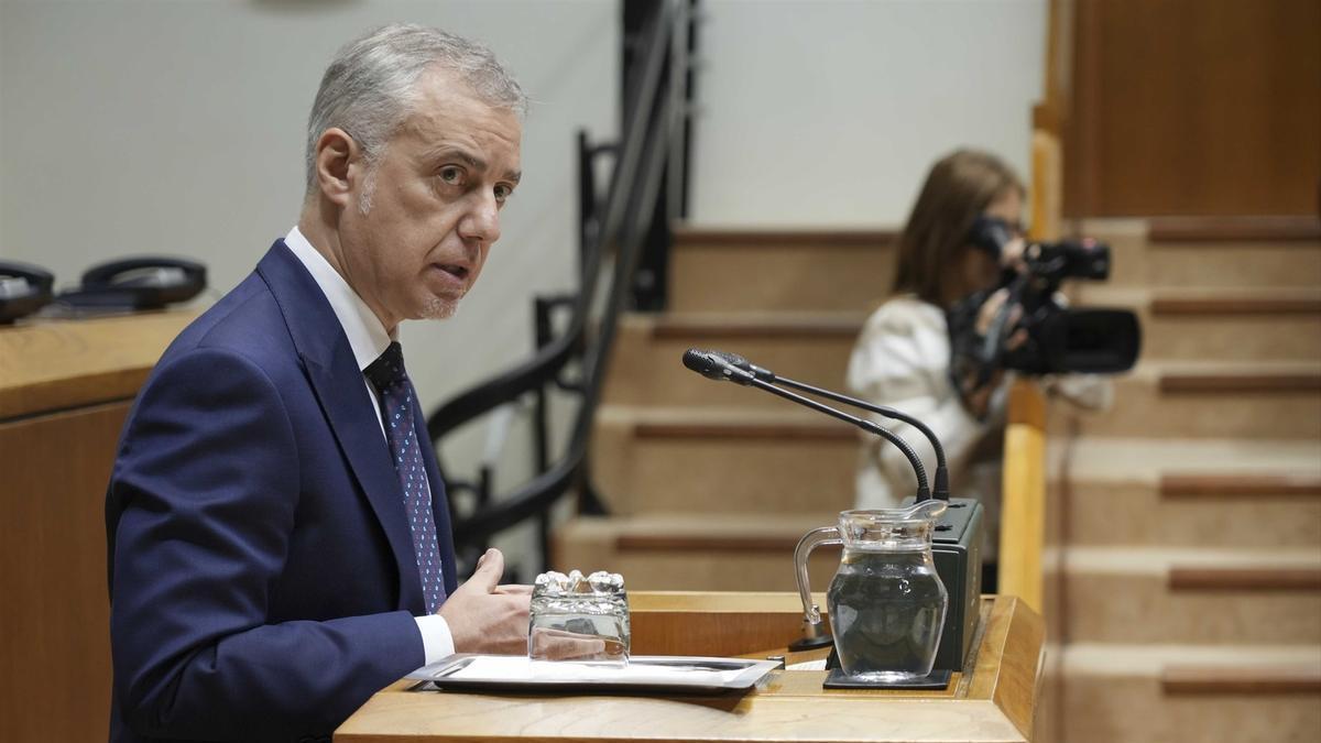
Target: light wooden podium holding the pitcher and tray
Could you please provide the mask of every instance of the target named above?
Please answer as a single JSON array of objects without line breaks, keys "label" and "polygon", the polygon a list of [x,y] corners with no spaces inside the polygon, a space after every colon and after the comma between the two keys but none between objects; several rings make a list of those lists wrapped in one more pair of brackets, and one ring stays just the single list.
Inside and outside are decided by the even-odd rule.
[{"label": "light wooden podium holding the pitcher and tray", "polygon": [[[630,595],[633,652],[766,657],[793,665],[797,594]],[[819,602],[824,604],[824,600]],[[972,650],[942,691],[826,690],[824,670],[775,670],[725,695],[411,691],[400,681],[339,727],[342,743],[404,742],[1015,742],[1032,740],[1044,658],[1041,617],[1013,596],[984,596]]]}]

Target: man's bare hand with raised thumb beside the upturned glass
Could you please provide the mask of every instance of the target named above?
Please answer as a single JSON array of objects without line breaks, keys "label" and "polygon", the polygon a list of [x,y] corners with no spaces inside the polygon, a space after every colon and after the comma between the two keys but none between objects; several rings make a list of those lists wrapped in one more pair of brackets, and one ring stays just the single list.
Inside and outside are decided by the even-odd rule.
[{"label": "man's bare hand with raised thumb beside the upturned glass", "polygon": [[477,571],[436,612],[445,617],[458,653],[527,652],[527,609],[531,588],[499,586],[505,555],[486,550]]}]

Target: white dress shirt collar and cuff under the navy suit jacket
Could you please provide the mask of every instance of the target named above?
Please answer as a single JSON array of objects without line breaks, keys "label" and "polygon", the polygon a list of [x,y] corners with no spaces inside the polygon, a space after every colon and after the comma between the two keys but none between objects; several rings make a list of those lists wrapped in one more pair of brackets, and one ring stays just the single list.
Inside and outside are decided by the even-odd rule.
[{"label": "white dress shirt collar and cuff under the navy suit jacket", "polygon": [[[362,297],[353,291],[353,287],[343,280],[343,276],[330,266],[325,256],[317,253],[317,249],[312,247],[312,243],[308,242],[308,238],[303,237],[297,226],[289,230],[289,234],[284,235],[284,245],[289,246],[293,255],[297,256],[308,272],[312,274],[317,286],[321,287],[321,292],[326,295],[330,309],[334,311],[334,316],[343,328],[343,334],[349,337],[349,346],[353,349],[353,357],[358,362],[358,369],[366,370],[373,361],[386,352],[386,348],[390,346],[394,338],[386,332],[386,327],[380,324],[376,313],[367,307],[367,303],[362,301]],[[380,426],[380,435],[383,438],[386,435],[386,426],[380,420],[380,401],[376,397],[376,390],[367,381],[366,373],[363,373],[362,383],[367,391],[367,399],[371,401],[371,407],[376,411],[376,423]],[[429,487],[431,484],[428,483]],[[417,621],[417,631],[421,632],[421,645],[428,664],[454,652],[454,637],[449,632],[449,624],[443,616],[433,613],[413,619]]]}]

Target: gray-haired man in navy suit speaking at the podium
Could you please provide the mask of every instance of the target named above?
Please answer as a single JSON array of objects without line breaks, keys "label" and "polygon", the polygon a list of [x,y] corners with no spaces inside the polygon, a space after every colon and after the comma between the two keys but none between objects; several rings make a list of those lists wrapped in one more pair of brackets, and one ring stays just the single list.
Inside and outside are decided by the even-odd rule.
[{"label": "gray-haired man in navy suit speaking at the podium", "polygon": [[297,226],[170,345],[124,426],[112,740],[328,739],[429,661],[526,649],[528,592],[498,586],[498,551],[456,583],[394,342],[481,274],[524,102],[485,48],[420,26],[326,70]]}]

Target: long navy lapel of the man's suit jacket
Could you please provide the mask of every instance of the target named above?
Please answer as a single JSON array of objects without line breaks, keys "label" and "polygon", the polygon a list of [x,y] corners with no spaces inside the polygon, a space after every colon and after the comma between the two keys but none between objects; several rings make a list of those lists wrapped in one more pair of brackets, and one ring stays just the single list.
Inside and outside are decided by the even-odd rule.
[{"label": "long navy lapel of the man's suit jacket", "polygon": [[[349,338],[321,287],[284,241],[271,247],[258,264],[258,272],[284,313],[321,410],[390,542],[399,568],[399,606],[424,613],[421,579],[404,517],[403,488]],[[448,520],[445,533],[448,535]]]}]

